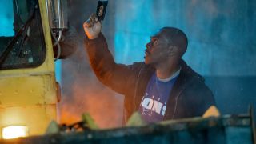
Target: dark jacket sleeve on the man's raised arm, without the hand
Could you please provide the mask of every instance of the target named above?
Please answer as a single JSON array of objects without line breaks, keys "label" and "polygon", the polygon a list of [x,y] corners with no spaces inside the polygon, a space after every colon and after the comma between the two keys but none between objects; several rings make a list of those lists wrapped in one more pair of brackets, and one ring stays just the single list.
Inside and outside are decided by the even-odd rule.
[{"label": "dark jacket sleeve on the man's raised arm, without the hand", "polygon": [[126,82],[135,74],[134,71],[130,69],[130,66],[114,62],[114,58],[110,50],[108,50],[103,34],[99,34],[98,38],[93,40],[85,38],[84,43],[90,66],[99,81],[112,90],[120,94],[125,94]]}]

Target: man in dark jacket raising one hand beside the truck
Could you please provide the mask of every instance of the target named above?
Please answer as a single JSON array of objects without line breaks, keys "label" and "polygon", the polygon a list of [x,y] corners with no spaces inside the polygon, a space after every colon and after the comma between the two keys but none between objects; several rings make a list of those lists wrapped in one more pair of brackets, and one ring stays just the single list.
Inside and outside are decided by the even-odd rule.
[{"label": "man in dark jacket raising one hand beside the truck", "polygon": [[103,84],[125,95],[125,120],[137,110],[146,122],[218,116],[204,79],[182,60],[187,46],[182,30],[162,28],[146,44],[145,62],[126,66],[114,62],[95,14],[83,27],[94,73]]}]

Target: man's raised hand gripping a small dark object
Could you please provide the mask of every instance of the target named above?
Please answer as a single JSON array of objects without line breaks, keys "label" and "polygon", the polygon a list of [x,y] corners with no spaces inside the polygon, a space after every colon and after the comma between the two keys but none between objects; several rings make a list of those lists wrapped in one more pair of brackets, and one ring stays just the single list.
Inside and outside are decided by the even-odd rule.
[{"label": "man's raised hand gripping a small dark object", "polygon": [[83,29],[89,39],[98,38],[98,34],[102,30],[102,23],[98,21],[96,14],[91,14],[90,18],[83,23]]}]

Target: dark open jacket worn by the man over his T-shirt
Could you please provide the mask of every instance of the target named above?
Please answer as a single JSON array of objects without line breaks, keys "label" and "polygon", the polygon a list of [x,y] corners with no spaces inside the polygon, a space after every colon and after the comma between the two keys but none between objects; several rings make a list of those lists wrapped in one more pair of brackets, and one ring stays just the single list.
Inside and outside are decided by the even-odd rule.
[{"label": "dark open jacket worn by the man over his T-shirt", "polygon": [[[125,95],[125,119],[138,110],[147,83],[155,70],[144,62],[122,65],[114,62],[102,34],[93,40],[85,39],[85,47],[90,65],[97,78],[106,86]],[[204,78],[194,72],[181,59],[182,70],[174,83],[167,102],[164,120],[202,116],[215,105],[211,90],[205,85]]]}]

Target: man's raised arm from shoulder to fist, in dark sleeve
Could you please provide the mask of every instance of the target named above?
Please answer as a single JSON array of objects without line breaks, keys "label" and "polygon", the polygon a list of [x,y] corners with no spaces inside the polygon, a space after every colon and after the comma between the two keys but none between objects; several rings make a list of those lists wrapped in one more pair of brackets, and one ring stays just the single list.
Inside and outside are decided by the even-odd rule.
[{"label": "man's raised arm from shoulder to fist, in dark sleeve", "polygon": [[84,22],[86,32],[85,47],[90,60],[90,66],[97,78],[106,86],[124,94],[127,79],[134,75],[128,66],[116,64],[108,50],[106,39],[101,33],[102,24],[96,14],[92,14],[88,21]]}]

